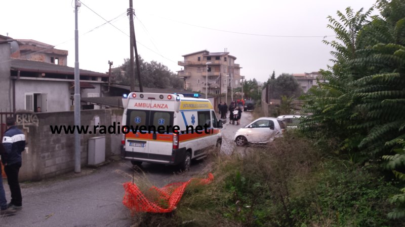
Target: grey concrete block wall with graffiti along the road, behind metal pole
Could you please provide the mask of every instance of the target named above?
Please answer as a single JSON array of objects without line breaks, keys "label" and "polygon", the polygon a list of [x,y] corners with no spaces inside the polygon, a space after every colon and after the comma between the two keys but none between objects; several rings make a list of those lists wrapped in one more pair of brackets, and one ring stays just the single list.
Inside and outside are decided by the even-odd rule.
[{"label": "grey concrete block wall with graffiti along the road, behind metal pole", "polygon": [[[82,110],[81,124],[93,129],[94,117],[100,118],[100,125],[110,126],[121,122],[122,109]],[[23,152],[21,181],[39,181],[74,171],[74,134],[52,134],[52,125],[74,125],[74,112],[34,113],[17,112],[17,125],[26,135],[26,149]],[[119,154],[122,134],[81,134],[80,150],[82,166],[88,163],[88,140],[105,136],[105,156]]]}]

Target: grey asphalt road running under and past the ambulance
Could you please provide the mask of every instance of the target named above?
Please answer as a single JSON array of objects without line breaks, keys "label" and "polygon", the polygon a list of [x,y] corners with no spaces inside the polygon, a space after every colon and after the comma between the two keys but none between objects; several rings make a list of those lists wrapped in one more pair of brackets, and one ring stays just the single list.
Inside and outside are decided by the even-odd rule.
[{"label": "grey asphalt road running under and past the ambulance", "polygon": [[[235,150],[233,136],[237,129],[251,122],[249,112],[242,113],[239,126],[224,125],[221,152]],[[237,148],[242,149],[242,148]],[[123,183],[148,181],[156,187],[204,177],[209,160],[193,161],[191,169],[179,173],[176,166],[142,164],[142,172],[134,172],[129,161],[113,160],[96,169],[82,168],[80,174],[66,174],[55,179],[22,183],[23,209],[16,215],[0,217],[0,226],[130,226],[132,216],[123,205]],[[206,177],[206,176],[205,176]],[[6,196],[10,199],[7,183]]]}]

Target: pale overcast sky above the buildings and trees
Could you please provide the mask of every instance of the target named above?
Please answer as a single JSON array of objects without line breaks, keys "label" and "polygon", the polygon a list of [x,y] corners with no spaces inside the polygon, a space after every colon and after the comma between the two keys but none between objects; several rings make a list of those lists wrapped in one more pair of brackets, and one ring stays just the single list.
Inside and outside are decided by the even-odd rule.
[{"label": "pale overcast sky above the buildings and trees", "polygon": [[[327,17],[350,6],[369,9],[370,0],[307,1],[137,1],[138,53],[176,72],[182,55],[207,49],[227,51],[247,79],[266,81],[274,70],[304,73],[326,69],[333,40]],[[120,66],[130,56],[129,1],[83,0],[78,13],[79,66],[107,72],[108,61]],[[93,12],[94,11],[94,12]],[[107,21],[112,20],[108,24]],[[74,1],[3,1],[0,34],[34,39],[69,51],[74,67]],[[115,26],[115,27],[114,27]],[[283,37],[284,36],[284,37]],[[287,37],[294,36],[294,37]],[[301,37],[299,37],[301,36]],[[302,37],[317,36],[317,37]]]}]

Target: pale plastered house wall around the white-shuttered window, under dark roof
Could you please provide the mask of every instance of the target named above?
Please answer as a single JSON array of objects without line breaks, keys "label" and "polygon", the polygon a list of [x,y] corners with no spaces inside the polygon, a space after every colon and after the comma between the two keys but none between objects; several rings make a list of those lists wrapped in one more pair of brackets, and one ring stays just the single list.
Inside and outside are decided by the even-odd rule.
[{"label": "pale plastered house wall around the white-shuttered window, under dark roof", "polygon": [[[47,94],[48,112],[70,110],[69,82],[46,80],[17,80],[16,109],[25,109],[25,93]],[[41,108],[45,111],[45,106]]]}]

